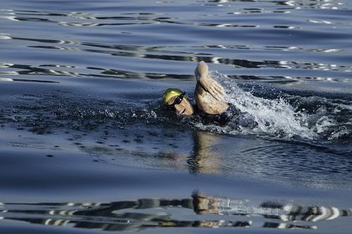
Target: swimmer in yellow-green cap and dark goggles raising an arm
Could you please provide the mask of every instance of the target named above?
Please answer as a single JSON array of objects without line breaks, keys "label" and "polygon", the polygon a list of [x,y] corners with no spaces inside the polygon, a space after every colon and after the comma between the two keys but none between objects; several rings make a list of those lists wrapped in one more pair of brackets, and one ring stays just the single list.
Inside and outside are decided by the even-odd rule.
[{"label": "swimmer in yellow-green cap and dark goggles raising an arm", "polygon": [[197,110],[206,115],[221,115],[229,108],[224,100],[224,88],[210,76],[208,65],[203,61],[198,63],[194,74],[196,107],[180,89],[167,89],[163,94],[163,105],[182,116],[193,115]]}]

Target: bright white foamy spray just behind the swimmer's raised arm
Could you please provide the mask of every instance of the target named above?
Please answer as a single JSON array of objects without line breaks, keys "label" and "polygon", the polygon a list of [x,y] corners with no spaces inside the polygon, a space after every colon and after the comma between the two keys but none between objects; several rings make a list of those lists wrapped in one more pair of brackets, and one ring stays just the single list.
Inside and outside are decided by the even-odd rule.
[{"label": "bright white foamy spray just behind the swimmer's raised arm", "polygon": [[239,88],[233,79],[225,74],[212,72],[212,75],[225,86],[227,103],[231,103],[244,113],[244,117],[253,119],[258,125],[254,129],[242,127],[246,134],[270,134],[275,136],[301,136],[314,138],[315,134],[308,127],[307,116],[296,112],[282,98],[270,100],[257,96]]}]

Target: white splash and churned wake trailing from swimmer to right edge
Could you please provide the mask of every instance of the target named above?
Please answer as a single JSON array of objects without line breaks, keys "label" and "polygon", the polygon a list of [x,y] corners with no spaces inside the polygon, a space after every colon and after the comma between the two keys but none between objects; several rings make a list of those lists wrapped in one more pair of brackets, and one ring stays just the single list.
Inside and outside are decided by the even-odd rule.
[{"label": "white splash and churned wake trailing from swimmer to right edge", "polygon": [[[322,103],[322,98],[318,97],[310,98],[307,103],[307,98],[303,96],[279,96],[277,94],[272,95],[275,98],[266,98],[263,96],[270,96],[268,94],[272,93],[264,93],[265,95],[260,96],[255,94],[253,89],[251,91],[241,89],[233,79],[225,74],[216,71],[212,71],[211,74],[225,88],[225,100],[233,109],[230,110],[232,119],[226,126],[195,123],[194,125],[200,129],[225,134],[298,137],[307,140],[320,138],[334,140],[346,136],[350,138],[351,124],[346,126],[346,123],[342,124],[336,119],[341,110],[351,108],[351,103],[342,105],[334,103],[334,100],[327,100],[327,98],[325,98],[325,103]],[[317,103],[317,100],[320,103]],[[299,108],[303,104],[306,108]],[[316,106],[320,108],[307,110]]]}]

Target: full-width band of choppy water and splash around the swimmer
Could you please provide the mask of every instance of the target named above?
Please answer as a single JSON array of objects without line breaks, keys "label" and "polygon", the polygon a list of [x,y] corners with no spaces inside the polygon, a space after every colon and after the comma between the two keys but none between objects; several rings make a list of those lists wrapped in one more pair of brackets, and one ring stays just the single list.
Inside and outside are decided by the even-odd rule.
[{"label": "full-width band of choppy water and splash around the swimmer", "polygon": [[[18,128],[28,128],[37,134],[51,129],[70,127],[92,130],[107,125],[119,129],[136,123],[182,128],[191,125],[202,131],[220,134],[246,134],[284,139],[339,141],[352,140],[352,100],[306,96],[302,93],[279,93],[241,86],[225,74],[212,72],[226,90],[230,103],[230,122],[225,126],[203,121],[197,115],[179,118],[165,112],[160,100],[132,103],[125,100],[79,98],[71,93],[44,91],[36,95],[18,96],[19,103],[0,110],[0,124],[13,122]],[[324,93],[323,93],[324,94]],[[30,120],[30,121],[29,121]]]}]

